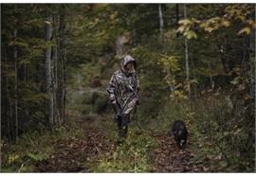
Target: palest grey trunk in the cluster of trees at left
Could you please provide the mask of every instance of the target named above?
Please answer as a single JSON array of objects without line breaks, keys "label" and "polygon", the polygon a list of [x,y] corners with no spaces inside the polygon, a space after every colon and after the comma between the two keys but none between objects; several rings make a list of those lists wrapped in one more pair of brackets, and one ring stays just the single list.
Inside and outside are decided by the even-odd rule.
[{"label": "palest grey trunk in the cluster of trees at left", "polygon": [[[52,15],[47,17],[50,24],[46,25],[46,42],[51,41],[52,37]],[[50,129],[53,129],[53,91],[52,91],[52,78],[51,78],[51,46],[46,48],[46,93],[47,93],[47,113],[49,118]]]}]

